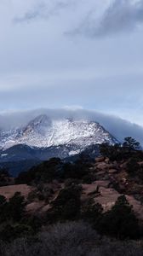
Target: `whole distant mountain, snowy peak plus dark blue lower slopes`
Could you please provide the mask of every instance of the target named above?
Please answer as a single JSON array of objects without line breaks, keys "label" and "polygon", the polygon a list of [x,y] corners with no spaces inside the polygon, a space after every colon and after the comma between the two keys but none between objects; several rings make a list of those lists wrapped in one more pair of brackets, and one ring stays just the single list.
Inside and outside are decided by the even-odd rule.
[{"label": "whole distant mountain, snowy peak plus dark blue lower slopes", "polygon": [[[86,119],[51,119],[39,115],[24,127],[0,132],[0,167],[26,171],[51,157],[66,159],[100,143],[118,143],[99,123]],[[92,149],[93,150],[93,149]],[[89,151],[91,151],[89,149]],[[88,151],[87,151],[88,152]]]}]

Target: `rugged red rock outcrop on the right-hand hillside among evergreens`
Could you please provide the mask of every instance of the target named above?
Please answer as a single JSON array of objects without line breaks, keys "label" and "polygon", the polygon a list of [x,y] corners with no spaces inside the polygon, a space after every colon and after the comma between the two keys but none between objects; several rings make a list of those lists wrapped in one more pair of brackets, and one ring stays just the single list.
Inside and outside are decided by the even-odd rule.
[{"label": "rugged red rock outcrop on the right-hand hillside among evergreens", "polygon": [[95,159],[95,164],[90,169],[94,173],[95,181],[83,184],[82,200],[92,198],[95,203],[100,203],[106,212],[112,208],[120,195],[125,195],[136,216],[143,221],[143,205],[136,199],[143,195],[142,185],[129,179],[126,164],[127,160],[112,162],[103,157]]}]

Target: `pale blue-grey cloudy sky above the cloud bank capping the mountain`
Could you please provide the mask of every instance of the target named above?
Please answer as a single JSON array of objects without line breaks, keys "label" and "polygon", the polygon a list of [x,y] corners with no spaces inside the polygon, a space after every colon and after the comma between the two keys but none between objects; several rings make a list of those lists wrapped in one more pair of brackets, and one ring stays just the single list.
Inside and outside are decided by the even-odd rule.
[{"label": "pale blue-grey cloudy sky above the cloud bank capping the mountain", "polygon": [[86,108],[143,125],[143,0],[0,0],[0,111]]}]

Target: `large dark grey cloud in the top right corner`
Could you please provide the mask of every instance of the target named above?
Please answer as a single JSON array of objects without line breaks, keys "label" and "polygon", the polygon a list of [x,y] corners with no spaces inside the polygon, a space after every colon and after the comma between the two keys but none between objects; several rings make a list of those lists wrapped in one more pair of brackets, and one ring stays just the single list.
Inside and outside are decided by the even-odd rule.
[{"label": "large dark grey cloud in the top right corner", "polygon": [[114,0],[100,19],[90,11],[80,26],[69,35],[83,34],[90,38],[105,37],[120,32],[131,32],[143,23],[143,1]]}]

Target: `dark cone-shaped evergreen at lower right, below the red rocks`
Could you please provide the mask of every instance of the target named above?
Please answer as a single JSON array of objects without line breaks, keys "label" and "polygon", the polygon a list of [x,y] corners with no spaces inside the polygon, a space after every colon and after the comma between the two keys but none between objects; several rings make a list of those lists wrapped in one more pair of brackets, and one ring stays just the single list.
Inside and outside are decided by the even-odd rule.
[{"label": "dark cone-shaped evergreen at lower right, below the red rocks", "polygon": [[126,197],[119,196],[111,211],[102,214],[96,224],[101,233],[119,239],[139,237],[139,224],[134,215],[133,207],[129,205]]}]

